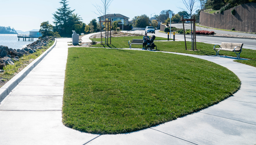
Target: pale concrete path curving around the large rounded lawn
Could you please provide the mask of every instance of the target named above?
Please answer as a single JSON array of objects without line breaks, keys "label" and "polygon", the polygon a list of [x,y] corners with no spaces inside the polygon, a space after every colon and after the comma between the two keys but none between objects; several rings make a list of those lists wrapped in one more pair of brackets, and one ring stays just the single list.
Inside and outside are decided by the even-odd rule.
[{"label": "pale concrete path curving around the large rounded lawn", "polygon": [[241,89],[216,105],[125,134],[89,134],[65,127],[61,122],[61,107],[70,40],[57,39],[55,48],[1,102],[1,145],[256,144],[256,68],[225,56],[181,54],[215,62],[240,78]]}]

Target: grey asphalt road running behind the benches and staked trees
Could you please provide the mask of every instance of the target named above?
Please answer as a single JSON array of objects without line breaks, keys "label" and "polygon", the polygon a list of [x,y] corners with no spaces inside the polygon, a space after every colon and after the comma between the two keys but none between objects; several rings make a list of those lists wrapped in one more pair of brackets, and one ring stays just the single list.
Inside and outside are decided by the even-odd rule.
[{"label": "grey asphalt road running behind the benches and staked trees", "polygon": [[[201,27],[200,27],[201,28]],[[208,30],[209,31],[209,30]],[[138,34],[145,34],[144,30],[136,30],[136,31],[124,31],[128,33],[138,33]],[[221,31],[222,32],[222,31]],[[216,33],[216,32],[215,32]],[[223,32],[224,33],[224,32]],[[226,33],[226,32],[225,32]],[[229,31],[227,31],[229,33]],[[234,32],[232,32],[234,33]],[[238,32],[235,32],[239,35]],[[166,33],[161,33],[159,30],[156,30],[156,33],[151,34],[149,33],[148,36],[155,35],[156,37],[163,37],[167,38],[168,35]],[[191,35],[186,35],[186,40],[191,41]],[[173,35],[171,35],[171,38],[173,38]],[[184,41],[184,35],[181,34],[175,34],[175,40],[177,41]],[[211,37],[211,36],[196,36],[197,42],[204,42],[204,43],[210,43],[210,44],[221,44],[221,42],[231,42],[231,43],[244,43],[243,48],[245,49],[253,49],[256,50],[256,39],[242,39],[242,38],[224,38],[224,37]]]}]

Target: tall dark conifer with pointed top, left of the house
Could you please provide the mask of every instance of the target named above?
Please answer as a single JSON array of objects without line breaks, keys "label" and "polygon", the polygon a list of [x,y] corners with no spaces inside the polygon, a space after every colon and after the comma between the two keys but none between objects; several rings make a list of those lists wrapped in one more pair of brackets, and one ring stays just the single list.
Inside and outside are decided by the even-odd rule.
[{"label": "tall dark conifer with pointed top, left of the house", "polygon": [[72,27],[70,26],[70,21],[72,19],[72,13],[75,10],[70,10],[68,7],[67,0],[61,0],[59,3],[62,4],[60,8],[53,14],[54,19],[54,30],[59,32],[61,36],[71,36]]}]

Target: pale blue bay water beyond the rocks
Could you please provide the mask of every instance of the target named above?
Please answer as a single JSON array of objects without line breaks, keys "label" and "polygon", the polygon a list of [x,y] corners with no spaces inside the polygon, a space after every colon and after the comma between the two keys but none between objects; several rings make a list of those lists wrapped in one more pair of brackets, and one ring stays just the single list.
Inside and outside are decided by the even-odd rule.
[{"label": "pale blue bay water beyond the rocks", "polygon": [[[25,39],[24,39],[25,40]],[[19,38],[17,34],[0,34],[0,46],[7,46],[8,48],[12,49],[22,49],[27,46],[27,44],[31,44],[34,41],[37,41],[37,38],[34,38],[34,41],[28,41],[28,38],[26,39],[27,41],[23,41],[23,38]]]}]

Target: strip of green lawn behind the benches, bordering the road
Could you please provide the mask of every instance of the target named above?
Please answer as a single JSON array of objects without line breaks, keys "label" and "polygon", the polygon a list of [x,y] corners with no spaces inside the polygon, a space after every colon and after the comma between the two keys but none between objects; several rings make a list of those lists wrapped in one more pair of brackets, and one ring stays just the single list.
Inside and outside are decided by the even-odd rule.
[{"label": "strip of green lawn behind the benches, bordering the road", "polygon": [[[141,37],[141,36],[137,36]],[[161,38],[161,37],[156,37]],[[116,37],[112,38],[115,41]],[[118,38],[125,39],[126,41],[116,41],[113,45],[92,45],[91,47],[104,47],[104,48],[129,48],[128,41],[132,37],[126,39],[125,37]],[[135,38],[134,38],[135,39]],[[184,41],[155,41],[155,45],[157,46],[157,51],[167,51],[167,52],[177,52],[177,53],[186,53],[186,54],[195,54],[195,55],[216,55],[216,52],[213,50],[214,44],[208,44],[203,42],[197,42],[197,51],[191,51],[191,42],[187,42],[187,50],[185,49],[185,42]],[[132,48],[142,48],[142,45],[132,44]],[[218,46],[216,46],[218,48]],[[237,57],[234,52],[230,51],[219,51],[219,55],[225,56],[233,56]],[[240,54],[240,58],[247,58],[253,60],[234,60],[236,62],[240,62],[242,64],[256,66],[256,51],[251,49],[242,49]]]}]

